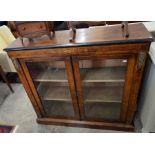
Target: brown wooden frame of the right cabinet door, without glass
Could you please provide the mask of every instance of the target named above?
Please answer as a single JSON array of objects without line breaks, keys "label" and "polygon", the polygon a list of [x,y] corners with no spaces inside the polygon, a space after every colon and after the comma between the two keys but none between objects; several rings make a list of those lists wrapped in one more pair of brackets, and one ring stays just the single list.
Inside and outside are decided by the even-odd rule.
[{"label": "brown wooden frame of the right cabinet door, without glass", "polygon": [[[84,110],[84,94],[83,88],[81,83],[81,75],[79,69],[79,61],[80,60],[101,60],[101,59],[127,59],[127,67],[126,67],[126,75],[125,75],[125,83],[123,88],[123,97],[122,97],[122,104],[121,104],[121,112],[120,112],[120,121],[119,122],[127,122],[127,111],[128,105],[130,100],[130,93],[132,88],[132,81],[134,78],[134,69],[136,65],[136,54],[113,54],[113,55],[84,55],[84,56],[72,56],[72,64],[73,64],[73,71],[76,80],[76,89],[77,89],[77,96],[78,96],[78,103],[79,103],[79,110],[80,116],[82,120],[94,120],[88,119],[85,116]],[[103,120],[107,121],[107,120]]]}]

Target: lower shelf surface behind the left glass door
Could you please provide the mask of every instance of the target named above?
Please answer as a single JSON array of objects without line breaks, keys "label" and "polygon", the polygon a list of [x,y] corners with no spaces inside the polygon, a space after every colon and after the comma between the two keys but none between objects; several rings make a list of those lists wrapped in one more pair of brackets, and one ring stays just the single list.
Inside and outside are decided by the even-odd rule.
[{"label": "lower shelf surface behind the left glass door", "polygon": [[71,101],[70,90],[66,86],[52,86],[49,83],[41,83],[38,93],[42,100]]}]

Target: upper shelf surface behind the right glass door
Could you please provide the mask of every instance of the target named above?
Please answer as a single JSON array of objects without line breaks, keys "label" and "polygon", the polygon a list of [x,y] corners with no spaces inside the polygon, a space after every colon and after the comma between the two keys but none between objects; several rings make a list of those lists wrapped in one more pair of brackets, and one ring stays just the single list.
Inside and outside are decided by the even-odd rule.
[{"label": "upper shelf surface behind the right glass door", "polygon": [[125,67],[81,69],[82,82],[124,82]]}]

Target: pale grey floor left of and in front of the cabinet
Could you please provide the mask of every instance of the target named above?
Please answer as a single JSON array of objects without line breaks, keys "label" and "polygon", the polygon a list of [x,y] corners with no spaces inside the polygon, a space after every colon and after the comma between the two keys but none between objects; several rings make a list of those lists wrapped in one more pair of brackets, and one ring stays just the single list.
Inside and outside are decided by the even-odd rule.
[{"label": "pale grey floor left of and in front of the cabinet", "polygon": [[[3,87],[0,83],[1,87]],[[29,98],[21,84],[12,84],[15,93],[7,92],[8,96],[0,102],[0,123],[18,125],[19,133],[109,133],[119,132],[111,130],[98,130],[88,128],[74,128],[55,125],[41,125],[36,123],[36,114],[31,106]],[[7,89],[7,88],[6,88]],[[2,91],[2,89],[0,90]],[[1,94],[0,94],[1,95]]]}]

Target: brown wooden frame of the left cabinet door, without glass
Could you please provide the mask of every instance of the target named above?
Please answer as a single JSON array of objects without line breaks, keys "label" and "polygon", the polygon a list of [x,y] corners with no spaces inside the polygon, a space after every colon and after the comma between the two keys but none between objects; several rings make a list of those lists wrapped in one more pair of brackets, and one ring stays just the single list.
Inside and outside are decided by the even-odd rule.
[{"label": "brown wooden frame of the left cabinet door, without glass", "polygon": [[[33,57],[33,58],[23,58],[23,59],[19,59],[19,63],[21,65],[21,68],[24,72],[25,78],[28,81],[28,84],[31,88],[31,91],[34,95],[34,98],[36,100],[36,104],[38,105],[41,115],[43,118],[45,118],[45,110],[43,108],[43,105],[41,103],[41,99],[39,97],[39,94],[37,92],[37,89],[33,83],[31,74],[29,72],[29,69],[26,65],[27,62],[41,62],[41,61],[64,61],[65,62],[65,66],[66,66],[66,74],[67,74],[67,78],[68,78],[68,84],[69,84],[69,90],[70,90],[70,94],[71,94],[71,99],[72,99],[72,106],[73,106],[73,111],[74,111],[74,118],[73,117],[51,117],[51,118],[59,118],[59,119],[75,119],[75,120],[79,120],[80,119],[80,115],[79,115],[79,108],[78,108],[78,103],[77,103],[77,96],[76,96],[76,89],[75,89],[75,84],[74,84],[74,76],[73,76],[73,68],[71,65],[71,58],[69,56],[64,56],[64,57]],[[49,117],[48,117],[49,118]]]}]

